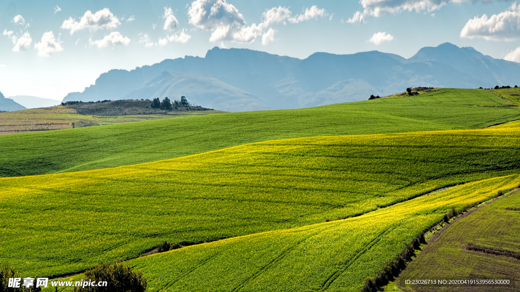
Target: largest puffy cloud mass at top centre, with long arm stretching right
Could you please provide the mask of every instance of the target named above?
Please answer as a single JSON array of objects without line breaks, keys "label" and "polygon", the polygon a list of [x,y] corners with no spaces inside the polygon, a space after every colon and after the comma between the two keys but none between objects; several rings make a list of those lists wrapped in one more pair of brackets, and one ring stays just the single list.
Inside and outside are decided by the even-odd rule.
[{"label": "largest puffy cloud mass at top centre, with long arm stretching right", "polygon": [[[328,15],[324,9],[317,6],[305,9],[301,15],[292,17],[286,7],[274,7],[266,10],[263,21],[248,25],[238,9],[226,0],[196,0],[188,9],[189,23],[202,30],[211,31],[210,41],[253,42],[257,37],[269,33],[269,26],[276,23],[298,23],[309,19],[317,19]],[[267,31],[267,32],[266,32]],[[274,32],[266,35],[266,42]]]}]

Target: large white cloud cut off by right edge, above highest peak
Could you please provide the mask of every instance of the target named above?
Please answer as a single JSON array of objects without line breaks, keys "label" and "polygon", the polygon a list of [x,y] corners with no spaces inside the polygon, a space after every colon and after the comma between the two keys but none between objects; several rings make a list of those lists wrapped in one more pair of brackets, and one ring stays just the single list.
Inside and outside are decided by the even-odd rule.
[{"label": "large white cloud cut off by right edge, above highest peak", "polygon": [[470,19],[460,32],[460,37],[484,38],[493,41],[511,41],[520,36],[520,6],[513,3],[500,14]]}]

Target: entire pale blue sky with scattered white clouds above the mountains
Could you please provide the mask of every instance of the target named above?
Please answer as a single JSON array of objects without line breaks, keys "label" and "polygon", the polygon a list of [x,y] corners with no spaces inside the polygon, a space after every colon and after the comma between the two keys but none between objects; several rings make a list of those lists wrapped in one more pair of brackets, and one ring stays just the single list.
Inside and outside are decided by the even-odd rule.
[{"label": "entire pale blue sky with scattered white clouds above the mountains", "polygon": [[[517,5],[518,4],[518,5]],[[520,2],[507,0],[0,0],[0,91],[61,100],[111,69],[207,50],[304,59],[450,42],[520,62]]]}]

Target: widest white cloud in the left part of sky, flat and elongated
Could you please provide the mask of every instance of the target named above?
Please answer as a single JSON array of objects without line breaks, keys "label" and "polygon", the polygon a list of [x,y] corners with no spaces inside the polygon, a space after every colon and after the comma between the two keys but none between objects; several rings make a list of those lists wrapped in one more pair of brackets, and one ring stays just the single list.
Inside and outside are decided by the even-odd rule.
[{"label": "widest white cloud in the left part of sky, flat and elongated", "polygon": [[74,32],[83,29],[89,29],[91,31],[99,29],[115,29],[120,24],[121,22],[119,19],[114,16],[108,8],[104,8],[94,14],[92,11],[88,10],[80,21],[76,21],[74,18],[69,17],[69,19],[63,21],[61,28],[70,30],[70,34],[72,35]]}]

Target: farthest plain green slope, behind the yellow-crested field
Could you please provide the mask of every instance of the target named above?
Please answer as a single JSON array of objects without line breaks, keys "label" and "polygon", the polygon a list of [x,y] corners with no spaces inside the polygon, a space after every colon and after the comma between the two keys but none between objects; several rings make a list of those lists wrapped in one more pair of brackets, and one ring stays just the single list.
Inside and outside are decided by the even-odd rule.
[{"label": "farthest plain green slope, behind the yellow-crested field", "polygon": [[[518,119],[520,108],[478,89],[325,107],[227,113],[0,136],[0,177],[164,160],[244,143],[327,135],[482,128]],[[488,105],[478,107],[477,105]]]}]

